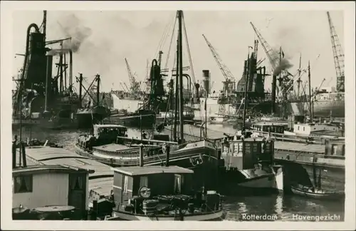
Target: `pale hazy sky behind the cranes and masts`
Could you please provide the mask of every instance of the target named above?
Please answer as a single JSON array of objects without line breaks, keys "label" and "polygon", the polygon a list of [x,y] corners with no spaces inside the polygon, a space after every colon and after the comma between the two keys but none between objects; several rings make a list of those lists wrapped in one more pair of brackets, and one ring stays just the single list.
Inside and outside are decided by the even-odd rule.
[{"label": "pale hazy sky behind the cranes and masts", "polygon": [[[152,58],[157,58],[155,53],[159,41],[164,29],[170,24],[168,38],[162,47],[162,60],[165,63],[175,11],[47,11],[47,40],[65,38],[66,34],[63,34],[58,22],[64,26],[75,26],[68,23],[68,18],[73,14],[80,19],[81,26],[91,30],[91,35],[83,41],[80,50],[73,54],[73,75],[80,72],[91,81],[96,73],[100,73],[103,91],[110,91],[111,88],[119,90],[120,81],[129,85],[124,58],[130,63],[132,72],[137,73],[138,80],[144,80],[147,58],[150,63]],[[330,16],[344,48],[343,13],[330,11]],[[14,56],[15,53],[24,53],[28,25],[36,23],[40,26],[42,17],[42,11],[15,11]],[[271,19],[269,24],[268,19]],[[326,11],[184,11],[184,21],[195,78],[201,80],[201,71],[209,69],[215,90],[221,88],[224,77],[201,34],[216,48],[222,61],[229,67],[236,81],[239,81],[248,46],[253,46],[253,40],[257,39],[250,21],[272,47],[282,46],[294,65],[290,73],[297,72],[299,54],[302,53],[302,68],[307,67],[308,60],[311,63],[312,86],[319,86],[323,78],[326,78],[323,86],[336,84]],[[176,51],[176,35],[169,68],[172,68]],[[185,41],[183,47],[184,66],[189,66]],[[320,57],[315,61],[319,54]],[[23,57],[14,56],[12,69],[15,75],[23,65]],[[265,57],[259,43],[258,59]],[[263,63],[269,70],[267,59]],[[189,71],[187,73],[191,74]],[[302,79],[307,78],[305,74]],[[271,77],[267,77],[265,88],[271,88],[270,85]]]}]

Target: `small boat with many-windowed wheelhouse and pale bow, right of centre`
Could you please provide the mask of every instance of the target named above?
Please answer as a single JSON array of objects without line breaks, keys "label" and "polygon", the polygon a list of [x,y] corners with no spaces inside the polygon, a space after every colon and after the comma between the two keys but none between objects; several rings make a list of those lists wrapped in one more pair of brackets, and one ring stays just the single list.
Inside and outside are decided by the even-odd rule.
[{"label": "small boat with many-windowed wheelhouse and pale bow, right of centre", "polygon": [[261,195],[283,191],[283,170],[273,163],[273,140],[234,137],[224,139],[221,170],[224,194]]}]

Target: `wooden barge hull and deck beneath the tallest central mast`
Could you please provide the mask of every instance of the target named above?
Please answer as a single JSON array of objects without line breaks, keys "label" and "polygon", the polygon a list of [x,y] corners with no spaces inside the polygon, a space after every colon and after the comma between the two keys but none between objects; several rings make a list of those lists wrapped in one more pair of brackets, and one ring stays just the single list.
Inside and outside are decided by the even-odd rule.
[{"label": "wooden barge hull and deck beneath the tallest central mast", "polygon": [[208,140],[178,144],[168,135],[157,139],[128,138],[122,125],[94,125],[93,135],[80,135],[75,152],[112,167],[137,166],[140,153],[145,165],[172,165],[194,170],[196,182],[208,188],[216,185],[220,162],[216,145]]}]

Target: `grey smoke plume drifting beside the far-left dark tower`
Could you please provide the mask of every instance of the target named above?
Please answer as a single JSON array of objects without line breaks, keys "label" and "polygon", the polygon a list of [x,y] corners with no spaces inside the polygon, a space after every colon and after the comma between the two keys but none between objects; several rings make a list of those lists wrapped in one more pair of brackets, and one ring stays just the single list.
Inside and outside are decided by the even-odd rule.
[{"label": "grey smoke plume drifting beside the far-left dark tower", "polygon": [[64,21],[58,21],[58,24],[61,26],[63,35],[71,39],[63,41],[63,48],[49,51],[51,55],[68,53],[69,51],[73,53],[80,51],[80,46],[92,34],[92,30],[83,26],[83,22],[74,14],[67,16]]}]

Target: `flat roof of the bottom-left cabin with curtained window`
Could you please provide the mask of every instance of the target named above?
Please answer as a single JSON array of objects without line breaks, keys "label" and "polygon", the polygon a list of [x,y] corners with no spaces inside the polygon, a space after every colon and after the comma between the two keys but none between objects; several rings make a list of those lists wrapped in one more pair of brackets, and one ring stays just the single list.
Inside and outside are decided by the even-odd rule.
[{"label": "flat roof of the bottom-left cabin with curtained window", "polygon": [[73,168],[66,165],[29,165],[26,168],[15,168],[12,175],[41,174],[41,173],[93,173],[93,170]]}]

